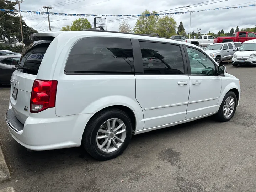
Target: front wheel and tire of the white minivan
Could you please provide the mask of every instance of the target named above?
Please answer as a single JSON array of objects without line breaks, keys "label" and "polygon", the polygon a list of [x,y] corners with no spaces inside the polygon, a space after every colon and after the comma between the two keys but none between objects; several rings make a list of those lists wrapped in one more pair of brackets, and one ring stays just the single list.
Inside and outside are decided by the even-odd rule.
[{"label": "front wheel and tire of the white minivan", "polygon": [[234,92],[229,91],[223,98],[219,111],[216,114],[217,121],[226,122],[232,119],[237,106],[237,98]]}]

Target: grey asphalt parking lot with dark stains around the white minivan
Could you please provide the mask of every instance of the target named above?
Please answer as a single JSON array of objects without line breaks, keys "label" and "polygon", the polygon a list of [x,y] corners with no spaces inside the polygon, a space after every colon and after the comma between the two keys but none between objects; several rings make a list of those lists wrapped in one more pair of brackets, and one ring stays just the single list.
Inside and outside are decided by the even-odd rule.
[{"label": "grey asphalt parking lot with dark stains around the white minivan", "polygon": [[209,117],[135,135],[121,156],[103,162],[81,148],[27,151],[7,130],[10,88],[0,88],[0,141],[11,173],[0,190],[255,192],[256,67],[229,64],[228,73],[240,79],[242,91],[231,121]]}]

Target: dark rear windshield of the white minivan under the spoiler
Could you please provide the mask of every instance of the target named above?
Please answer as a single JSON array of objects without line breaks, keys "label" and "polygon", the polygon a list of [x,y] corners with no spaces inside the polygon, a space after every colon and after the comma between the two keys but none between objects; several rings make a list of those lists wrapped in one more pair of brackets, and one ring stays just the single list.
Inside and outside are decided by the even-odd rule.
[{"label": "dark rear windshield of the white minivan under the spoiler", "polygon": [[17,70],[37,75],[44,54],[52,41],[39,40],[32,42],[21,56]]}]

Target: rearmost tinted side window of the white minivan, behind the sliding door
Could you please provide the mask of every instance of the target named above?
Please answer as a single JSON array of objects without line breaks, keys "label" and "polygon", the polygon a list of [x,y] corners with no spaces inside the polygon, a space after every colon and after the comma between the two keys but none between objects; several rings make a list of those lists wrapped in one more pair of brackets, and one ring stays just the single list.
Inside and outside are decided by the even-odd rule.
[{"label": "rearmost tinted side window of the white minivan, behind the sliding door", "polygon": [[70,51],[68,73],[133,73],[130,39],[92,37],[78,41]]}]

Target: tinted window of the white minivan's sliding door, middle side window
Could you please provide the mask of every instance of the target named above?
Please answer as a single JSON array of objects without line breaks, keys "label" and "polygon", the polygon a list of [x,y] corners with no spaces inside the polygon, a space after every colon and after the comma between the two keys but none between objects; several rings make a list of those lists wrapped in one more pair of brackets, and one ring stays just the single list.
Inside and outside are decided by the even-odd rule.
[{"label": "tinted window of the white minivan's sliding door, middle side window", "polygon": [[180,46],[139,42],[145,74],[184,74]]}]

